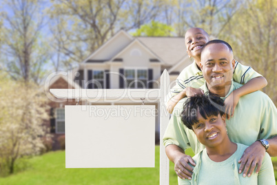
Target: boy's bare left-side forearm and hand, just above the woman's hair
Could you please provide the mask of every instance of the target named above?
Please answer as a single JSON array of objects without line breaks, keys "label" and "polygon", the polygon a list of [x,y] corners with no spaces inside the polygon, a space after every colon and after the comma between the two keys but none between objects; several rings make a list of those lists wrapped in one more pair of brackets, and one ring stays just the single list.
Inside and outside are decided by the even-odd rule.
[{"label": "boy's bare left-side forearm and hand, just above the woman's hair", "polygon": [[203,90],[200,88],[187,87],[183,89],[178,95],[173,96],[169,101],[167,101],[167,112],[172,114],[174,107],[184,97],[192,97],[194,95],[203,95]]}]

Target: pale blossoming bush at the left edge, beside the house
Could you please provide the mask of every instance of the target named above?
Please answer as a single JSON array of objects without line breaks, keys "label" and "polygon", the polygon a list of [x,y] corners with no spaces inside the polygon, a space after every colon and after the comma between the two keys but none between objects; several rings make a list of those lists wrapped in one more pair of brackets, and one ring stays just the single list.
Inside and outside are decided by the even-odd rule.
[{"label": "pale blossoming bush at the left edge, beside the house", "polygon": [[18,83],[0,74],[0,175],[14,172],[17,159],[41,153],[43,137],[49,137],[45,95],[35,84]]}]

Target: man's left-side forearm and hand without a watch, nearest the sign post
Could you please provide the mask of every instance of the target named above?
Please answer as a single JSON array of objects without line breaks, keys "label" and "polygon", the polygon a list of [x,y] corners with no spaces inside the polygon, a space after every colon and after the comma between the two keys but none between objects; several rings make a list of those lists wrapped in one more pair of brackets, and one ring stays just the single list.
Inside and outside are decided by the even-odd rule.
[{"label": "man's left-side forearm and hand without a watch, nearest the sign post", "polygon": [[166,146],[165,153],[168,159],[174,163],[174,171],[178,177],[181,179],[192,179],[193,168],[188,164],[196,165],[192,157],[185,155],[184,150],[174,144]]}]

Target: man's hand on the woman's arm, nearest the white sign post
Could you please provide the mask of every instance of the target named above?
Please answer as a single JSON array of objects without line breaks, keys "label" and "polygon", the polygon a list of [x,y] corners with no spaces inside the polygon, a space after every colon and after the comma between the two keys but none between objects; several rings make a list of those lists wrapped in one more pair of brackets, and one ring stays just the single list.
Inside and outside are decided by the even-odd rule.
[{"label": "man's hand on the woman's arm, nearest the white sign post", "polygon": [[189,155],[179,155],[174,160],[174,171],[180,177],[181,179],[192,179],[192,171],[194,168],[192,166],[189,166],[189,164],[192,164],[195,166],[194,159],[190,157]]}]

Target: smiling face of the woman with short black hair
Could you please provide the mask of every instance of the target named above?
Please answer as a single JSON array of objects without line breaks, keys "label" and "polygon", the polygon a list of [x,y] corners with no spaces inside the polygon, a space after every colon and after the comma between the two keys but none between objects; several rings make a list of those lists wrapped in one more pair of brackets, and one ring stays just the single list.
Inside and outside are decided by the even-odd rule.
[{"label": "smiling face of the woman with short black hair", "polygon": [[192,126],[192,129],[198,141],[209,148],[222,144],[225,137],[227,137],[225,115],[212,115],[204,119],[197,111],[197,118],[199,121]]}]

